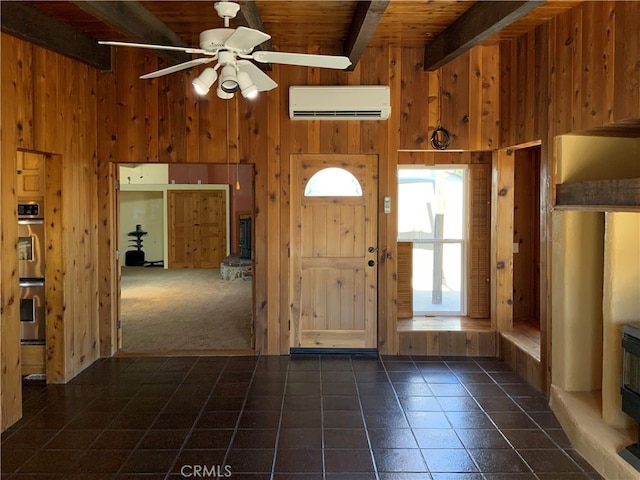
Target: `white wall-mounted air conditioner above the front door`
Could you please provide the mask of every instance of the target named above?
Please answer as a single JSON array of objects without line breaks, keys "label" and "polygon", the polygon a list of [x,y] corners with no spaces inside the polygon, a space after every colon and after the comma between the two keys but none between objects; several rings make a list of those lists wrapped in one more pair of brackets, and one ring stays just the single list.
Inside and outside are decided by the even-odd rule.
[{"label": "white wall-mounted air conditioner above the front door", "polygon": [[337,85],[289,87],[292,120],[386,120],[391,115],[389,87]]}]

